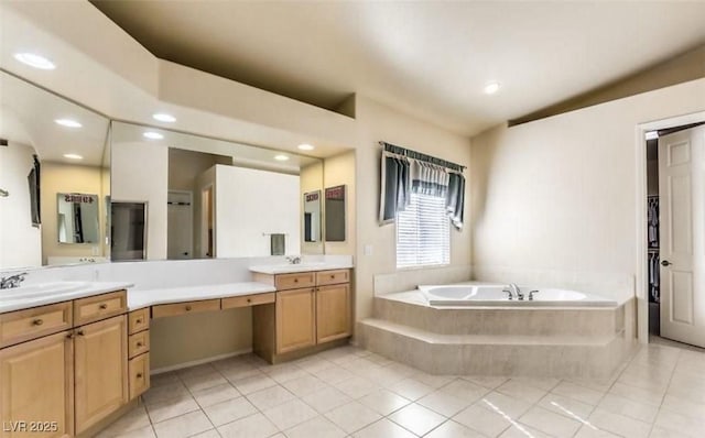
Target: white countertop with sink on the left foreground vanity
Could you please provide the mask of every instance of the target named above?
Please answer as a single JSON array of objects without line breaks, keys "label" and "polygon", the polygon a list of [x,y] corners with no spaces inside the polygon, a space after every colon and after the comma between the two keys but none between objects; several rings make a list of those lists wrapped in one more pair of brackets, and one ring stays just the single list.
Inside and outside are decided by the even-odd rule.
[{"label": "white countertop with sink on the left foreground vanity", "polygon": [[132,287],[126,282],[52,282],[0,291],[0,314]]}]

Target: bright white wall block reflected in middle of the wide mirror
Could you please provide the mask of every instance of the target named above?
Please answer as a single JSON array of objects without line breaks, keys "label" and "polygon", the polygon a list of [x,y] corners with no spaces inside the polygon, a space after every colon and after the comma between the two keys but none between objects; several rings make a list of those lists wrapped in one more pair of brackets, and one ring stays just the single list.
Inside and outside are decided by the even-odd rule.
[{"label": "bright white wall block reflected in middle of the wide mirror", "polygon": [[216,165],[217,256],[269,255],[270,233],[285,233],[286,254],[300,254],[299,179],[297,175]]}]

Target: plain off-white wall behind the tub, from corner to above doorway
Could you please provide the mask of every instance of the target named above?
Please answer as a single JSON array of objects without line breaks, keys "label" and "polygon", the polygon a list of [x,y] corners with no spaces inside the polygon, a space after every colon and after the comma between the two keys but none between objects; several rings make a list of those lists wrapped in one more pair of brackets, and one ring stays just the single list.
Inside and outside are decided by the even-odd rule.
[{"label": "plain off-white wall behind the tub, from corner to above doorway", "polygon": [[474,138],[476,276],[583,282],[620,302],[633,296],[646,202],[637,199],[646,174],[637,169],[637,127],[703,109],[699,79]]}]

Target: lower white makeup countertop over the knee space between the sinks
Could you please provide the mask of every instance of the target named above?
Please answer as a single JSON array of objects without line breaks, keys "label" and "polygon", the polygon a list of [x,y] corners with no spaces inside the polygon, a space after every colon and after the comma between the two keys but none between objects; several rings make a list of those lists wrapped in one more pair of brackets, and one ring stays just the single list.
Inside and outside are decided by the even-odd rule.
[{"label": "lower white makeup countertop over the knee space between the sinks", "polygon": [[193,302],[199,299],[227,298],[232,296],[263,294],[276,288],[263,283],[225,283],[163,289],[134,291],[128,289],[128,308],[137,310],[158,304]]}]

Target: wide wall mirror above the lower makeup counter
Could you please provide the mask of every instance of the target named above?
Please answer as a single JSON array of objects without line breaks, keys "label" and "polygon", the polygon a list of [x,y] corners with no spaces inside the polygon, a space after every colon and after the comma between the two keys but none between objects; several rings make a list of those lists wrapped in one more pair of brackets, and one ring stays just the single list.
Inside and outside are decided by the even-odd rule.
[{"label": "wide wall mirror above the lower makeup counter", "polygon": [[141,222],[113,208],[112,236],[143,231],[147,260],[323,253],[322,209],[305,202],[322,190],[319,158],[124,122],[111,152],[112,205],[147,206]]}]

